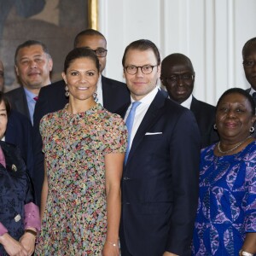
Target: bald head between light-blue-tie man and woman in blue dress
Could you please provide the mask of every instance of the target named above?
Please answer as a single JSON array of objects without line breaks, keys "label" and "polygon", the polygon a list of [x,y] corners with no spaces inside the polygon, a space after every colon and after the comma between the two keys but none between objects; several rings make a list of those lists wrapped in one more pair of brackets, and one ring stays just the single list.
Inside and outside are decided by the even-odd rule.
[{"label": "bald head between light-blue-tie man and woman in blue dress", "polygon": [[181,104],[192,94],[195,71],[189,57],[175,53],[168,55],[161,63],[162,84],[173,101]]}]

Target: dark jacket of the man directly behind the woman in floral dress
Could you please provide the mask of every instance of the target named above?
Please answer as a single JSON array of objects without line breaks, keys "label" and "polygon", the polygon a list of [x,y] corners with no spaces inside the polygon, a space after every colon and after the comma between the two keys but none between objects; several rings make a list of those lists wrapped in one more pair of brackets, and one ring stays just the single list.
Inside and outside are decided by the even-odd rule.
[{"label": "dark jacket of the man directly behind the woman in floral dress", "polygon": [[[39,123],[47,113],[58,111],[65,107],[68,98],[65,96],[64,80],[41,88],[34,112],[33,141],[34,141],[34,170],[33,177],[36,191],[36,201],[39,205],[41,190],[44,181],[44,154],[42,152],[42,137],[39,132]],[[114,113],[127,102],[131,102],[130,92],[126,84],[102,76],[103,107]]]}]

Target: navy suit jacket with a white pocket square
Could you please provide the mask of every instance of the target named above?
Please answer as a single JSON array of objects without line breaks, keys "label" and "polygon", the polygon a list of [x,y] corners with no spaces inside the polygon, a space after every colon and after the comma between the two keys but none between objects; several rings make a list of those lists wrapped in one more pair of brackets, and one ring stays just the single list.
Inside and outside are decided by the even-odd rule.
[{"label": "navy suit jacket with a white pocket square", "polygon": [[[124,117],[128,107],[119,114]],[[193,113],[159,91],[137,130],[123,172],[122,256],[165,251],[190,255],[200,148]]]}]

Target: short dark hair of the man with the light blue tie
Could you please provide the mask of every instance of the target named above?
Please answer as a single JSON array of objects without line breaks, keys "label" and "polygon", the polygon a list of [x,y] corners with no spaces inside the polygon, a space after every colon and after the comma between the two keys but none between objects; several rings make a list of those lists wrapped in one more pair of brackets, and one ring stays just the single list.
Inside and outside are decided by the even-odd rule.
[{"label": "short dark hair of the man with the light blue tie", "polygon": [[147,50],[147,49],[152,49],[154,51],[154,55],[157,60],[157,65],[160,65],[161,59],[160,59],[160,53],[159,50],[157,49],[156,45],[151,42],[150,40],[147,39],[140,39],[137,41],[132,42],[125,48],[125,53],[123,55],[122,59],[122,64],[123,67],[125,67],[125,57],[129,49],[138,49],[138,50]]}]

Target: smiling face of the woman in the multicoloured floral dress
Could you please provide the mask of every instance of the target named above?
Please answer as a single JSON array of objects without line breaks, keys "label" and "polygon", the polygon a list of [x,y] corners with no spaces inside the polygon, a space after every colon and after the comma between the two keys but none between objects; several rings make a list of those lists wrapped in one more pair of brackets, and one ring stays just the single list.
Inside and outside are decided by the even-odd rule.
[{"label": "smiling face of the woman in the multicoloured floral dress", "polygon": [[81,57],[69,64],[62,77],[67,84],[70,100],[84,101],[92,99],[99,73],[95,61],[89,57]]}]

